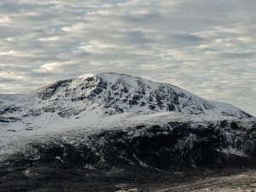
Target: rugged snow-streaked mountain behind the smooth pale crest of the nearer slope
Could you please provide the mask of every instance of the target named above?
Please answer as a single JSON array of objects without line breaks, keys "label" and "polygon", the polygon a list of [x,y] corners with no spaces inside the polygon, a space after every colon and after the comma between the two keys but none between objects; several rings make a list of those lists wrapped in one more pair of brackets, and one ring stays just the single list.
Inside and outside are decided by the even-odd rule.
[{"label": "rugged snow-streaked mountain behind the smooth pale crest of the nearer slope", "polygon": [[25,95],[0,95],[1,125],[20,121],[27,128],[39,119],[52,125],[61,119],[86,118],[89,114],[168,111],[251,117],[239,108],[207,101],[172,84],[117,73],[87,74],[61,80]]}]

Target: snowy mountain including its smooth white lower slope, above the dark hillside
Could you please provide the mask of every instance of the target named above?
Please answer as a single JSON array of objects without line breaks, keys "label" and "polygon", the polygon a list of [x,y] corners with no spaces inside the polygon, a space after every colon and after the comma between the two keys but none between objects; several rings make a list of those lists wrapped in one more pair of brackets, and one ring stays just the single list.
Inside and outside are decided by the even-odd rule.
[{"label": "snowy mountain including its smooth white lower slope, above the dark hillside", "polygon": [[0,148],[7,146],[0,154],[9,150],[6,143],[20,137],[250,117],[239,108],[205,100],[172,84],[117,73],[87,74],[28,94],[0,95]]}]

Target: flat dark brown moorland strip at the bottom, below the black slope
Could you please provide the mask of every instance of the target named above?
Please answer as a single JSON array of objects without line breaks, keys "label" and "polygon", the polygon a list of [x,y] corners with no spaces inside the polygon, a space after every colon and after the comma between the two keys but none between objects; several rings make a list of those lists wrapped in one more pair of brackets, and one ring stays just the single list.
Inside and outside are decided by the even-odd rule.
[{"label": "flat dark brown moorland strip at the bottom, below the black slope", "polygon": [[126,166],[100,172],[42,166],[2,169],[0,174],[1,192],[256,191],[256,172],[247,169],[155,172]]}]

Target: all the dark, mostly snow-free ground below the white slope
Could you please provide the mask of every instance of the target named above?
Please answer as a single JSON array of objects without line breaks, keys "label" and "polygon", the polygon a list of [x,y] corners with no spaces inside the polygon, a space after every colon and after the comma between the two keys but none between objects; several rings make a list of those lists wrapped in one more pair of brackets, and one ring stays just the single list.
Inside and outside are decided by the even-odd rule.
[{"label": "all the dark, mostly snow-free ground below the white slope", "polygon": [[254,122],[222,120],[34,141],[1,163],[0,191],[253,191],[255,134]]}]

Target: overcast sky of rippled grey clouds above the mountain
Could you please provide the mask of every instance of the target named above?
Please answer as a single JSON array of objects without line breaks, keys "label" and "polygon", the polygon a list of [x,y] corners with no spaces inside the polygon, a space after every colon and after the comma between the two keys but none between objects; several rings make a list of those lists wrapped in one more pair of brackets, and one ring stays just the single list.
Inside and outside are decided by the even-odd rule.
[{"label": "overcast sky of rippled grey clouds above the mountain", "polygon": [[1,0],[0,93],[128,73],[256,115],[255,0]]}]

